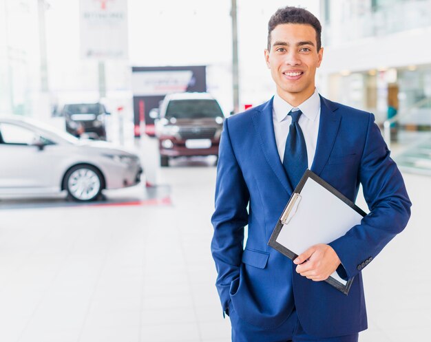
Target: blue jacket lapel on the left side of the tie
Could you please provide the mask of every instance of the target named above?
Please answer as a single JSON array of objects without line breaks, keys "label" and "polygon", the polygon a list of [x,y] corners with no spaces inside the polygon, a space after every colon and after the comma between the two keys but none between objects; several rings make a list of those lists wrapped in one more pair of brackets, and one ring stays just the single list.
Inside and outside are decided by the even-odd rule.
[{"label": "blue jacket lapel on the left side of the tie", "polygon": [[274,171],[277,179],[282,183],[284,189],[286,189],[287,193],[291,194],[293,189],[287,180],[286,171],[284,171],[283,164],[278,154],[277,144],[275,142],[273,98],[271,98],[271,100],[262,107],[261,111],[255,111],[252,119],[266,161]]}]

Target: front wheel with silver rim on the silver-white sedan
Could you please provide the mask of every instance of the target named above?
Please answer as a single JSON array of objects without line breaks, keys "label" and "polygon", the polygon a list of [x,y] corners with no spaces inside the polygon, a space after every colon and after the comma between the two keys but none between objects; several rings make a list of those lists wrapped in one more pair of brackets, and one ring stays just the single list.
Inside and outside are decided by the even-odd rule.
[{"label": "front wheel with silver rim on the silver-white sedan", "polygon": [[90,202],[102,191],[102,175],[90,165],[76,165],[65,175],[65,189],[73,200]]}]

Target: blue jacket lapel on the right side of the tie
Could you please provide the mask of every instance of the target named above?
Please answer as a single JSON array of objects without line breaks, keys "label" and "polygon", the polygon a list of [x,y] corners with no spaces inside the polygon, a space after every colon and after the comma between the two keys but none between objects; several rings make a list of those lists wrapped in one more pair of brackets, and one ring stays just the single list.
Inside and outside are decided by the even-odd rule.
[{"label": "blue jacket lapel on the right side of the tie", "polygon": [[319,175],[332,151],[339,128],[341,116],[337,113],[337,105],[320,96],[320,123],[317,147],[311,171]]}]

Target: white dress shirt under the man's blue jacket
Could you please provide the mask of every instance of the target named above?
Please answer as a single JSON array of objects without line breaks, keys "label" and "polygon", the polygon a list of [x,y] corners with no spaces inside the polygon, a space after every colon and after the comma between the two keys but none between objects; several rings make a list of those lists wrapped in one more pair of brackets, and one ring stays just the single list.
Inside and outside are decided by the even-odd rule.
[{"label": "white dress shirt under the man's blue jacket", "polygon": [[289,126],[292,123],[292,117],[288,115],[288,113],[293,108],[299,108],[302,111],[302,115],[299,117],[298,123],[299,127],[302,129],[302,133],[304,133],[305,145],[307,147],[308,169],[311,169],[316,153],[320,122],[320,97],[317,89],[315,89],[313,95],[297,107],[293,107],[287,103],[278,94],[275,94],[274,96],[273,122],[275,142],[277,143],[278,154],[280,155],[280,160],[282,162]]}]

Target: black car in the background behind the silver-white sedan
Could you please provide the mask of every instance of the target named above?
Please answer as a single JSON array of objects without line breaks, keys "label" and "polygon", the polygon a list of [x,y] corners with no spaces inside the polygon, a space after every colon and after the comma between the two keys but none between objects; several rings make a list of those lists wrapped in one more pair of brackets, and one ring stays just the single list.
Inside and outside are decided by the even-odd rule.
[{"label": "black car in the background behind the silver-white sedan", "polygon": [[101,103],[73,103],[63,107],[66,131],[80,137],[106,140],[105,118],[109,115]]}]

